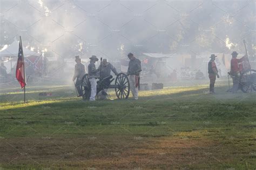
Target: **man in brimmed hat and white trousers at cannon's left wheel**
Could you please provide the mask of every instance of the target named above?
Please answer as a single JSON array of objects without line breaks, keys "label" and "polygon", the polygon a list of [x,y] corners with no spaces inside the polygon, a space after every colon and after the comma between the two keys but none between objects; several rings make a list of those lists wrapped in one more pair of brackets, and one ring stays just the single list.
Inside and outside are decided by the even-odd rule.
[{"label": "man in brimmed hat and white trousers at cannon's left wheel", "polygon": [[88,74],[89,74],[89,81],[91,84],[91,97],[90,101],[94,101],[96,94],[97,94],[97,81],[96,79],[99,77],[98,72],[99,70],[96,69],[95,62],[99,59],[96,56],[90,57],[90,64],[88,65]]}]

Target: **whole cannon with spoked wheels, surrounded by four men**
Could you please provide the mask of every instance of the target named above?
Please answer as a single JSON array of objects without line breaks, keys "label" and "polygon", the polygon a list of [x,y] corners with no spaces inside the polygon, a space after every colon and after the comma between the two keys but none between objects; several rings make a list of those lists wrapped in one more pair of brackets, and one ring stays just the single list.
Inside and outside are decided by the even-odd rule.
[{"label": "whole cannon with spoked wheels, surrounded by four men", "polygon": [[[91,85],[89,81],[89,74],[84,74],[82,78],[81,89],[83,92],[83,99],[89,100],[91,96]],[[111,84],[114,81],[114,84]],[[97,81],[97,94],[104,89],[114,89],[118,99],[127,99],[130,94],[130,82],[126,74],[119,73],[116,79],[113,76],[109,76]]]}]

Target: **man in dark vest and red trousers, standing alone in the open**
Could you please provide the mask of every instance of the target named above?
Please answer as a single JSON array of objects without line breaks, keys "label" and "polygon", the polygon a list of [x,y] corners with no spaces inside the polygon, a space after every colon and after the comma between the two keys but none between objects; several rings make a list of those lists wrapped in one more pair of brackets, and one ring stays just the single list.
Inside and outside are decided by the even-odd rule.
[{"label": "man in dark vest and red trousers, standing alone in the open", "polygon": [[214,54],[211,55],[211,60],[210,62],[208,62],[208,76],[210,78],[210,93],[214,94],[214,84],[215,84],[215,80],[216,80],[216,76],[219,78],[219,73],[218,73],[218,69],[217,66],[214,62],[215,58],[217,56],[215,56]]}]

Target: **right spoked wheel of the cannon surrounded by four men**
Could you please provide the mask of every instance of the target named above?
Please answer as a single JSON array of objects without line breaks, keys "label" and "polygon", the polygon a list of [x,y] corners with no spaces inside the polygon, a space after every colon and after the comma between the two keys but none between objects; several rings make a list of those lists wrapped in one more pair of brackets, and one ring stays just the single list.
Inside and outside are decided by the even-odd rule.
[{"label": "right spoked wheel of the cannon surrounded by four men", "polygon": [[117,86],[114,88],[118,99],[127,99],[130,94],[130,82],[126,74],[117,74],[114,84]]}]

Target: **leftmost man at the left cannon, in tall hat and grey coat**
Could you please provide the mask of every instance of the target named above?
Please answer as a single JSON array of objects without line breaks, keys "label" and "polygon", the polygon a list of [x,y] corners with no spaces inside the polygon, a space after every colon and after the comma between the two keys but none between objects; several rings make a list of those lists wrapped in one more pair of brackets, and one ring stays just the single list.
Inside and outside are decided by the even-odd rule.
[{"label": "leftmost man at the left cannon, in tall hat and grey coat", "polygon": [[76,79],[75,86],[78,92],[78,97],[80,97],[80,96],[83,96],[83,92],[80,85],[82,83],[82,78],[85,74],[85,66],[81,63],[81,59],[79,56],[75,56],[75,57],[76,57],[75,61],[77,64],[75,65],[75,73],[72,80],[75,81]]}]

